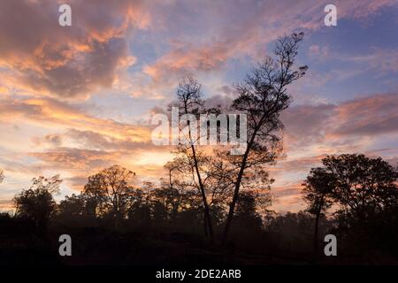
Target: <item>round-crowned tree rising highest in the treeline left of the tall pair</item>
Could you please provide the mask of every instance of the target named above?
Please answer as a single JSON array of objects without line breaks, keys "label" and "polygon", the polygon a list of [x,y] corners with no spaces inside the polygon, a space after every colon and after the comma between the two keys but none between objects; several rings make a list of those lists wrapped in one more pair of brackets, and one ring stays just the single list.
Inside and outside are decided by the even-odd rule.
[{"label": "round-crowned tree rising highest in the treeline left of the tall pair", "polygon": [[126,216],[129,197],[133,194],[132,181],[135,173],[119,165],[113,165],[90,176],[84,187],[84,194],[90,195],[92,213],[99,210],[109,212],[116,219],[116,225]]}]

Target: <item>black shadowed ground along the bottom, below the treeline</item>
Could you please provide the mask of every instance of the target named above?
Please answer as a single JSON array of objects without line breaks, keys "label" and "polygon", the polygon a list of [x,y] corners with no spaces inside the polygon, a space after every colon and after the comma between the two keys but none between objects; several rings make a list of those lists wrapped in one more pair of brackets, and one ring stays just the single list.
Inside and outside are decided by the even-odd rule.
[{"label": "black shadowed ground along the bottom, below the treeline", "polygon": [[[299,247],[254,245],[261,239],[241,238],[230,241],[226,248],[210,245],[202,235],[188,232],[162,232],[157,229],[128,227],[105,228],[50,226],[48,233],[34,233],[31,223],[10,222],[0,233],[0,264],[39,265],[139,265],[139,266],[251,266],[251,265],[313,265],[313,264],[398,264],[394,256],[364,251],[338,256],[314,256]],[[135,230],[135,231],[134,231]],[[140,232],[137,232],[140,231]],[[58,237],[67,233],[72,238],[72,256],[59,256]],[[264,234],[264,241],[267,241]],[[280,239],[280,241],[284,241]],[[273,245],[273,249],[272,249]],[[265,248],[268,247],[268,248]],[[310,245],[308,245],[310,247]],[[323,249],[323,247],[321,247]],[[267,250],[268,249],[268,250]],[[310,249],[309,249],[310,250]]]}]

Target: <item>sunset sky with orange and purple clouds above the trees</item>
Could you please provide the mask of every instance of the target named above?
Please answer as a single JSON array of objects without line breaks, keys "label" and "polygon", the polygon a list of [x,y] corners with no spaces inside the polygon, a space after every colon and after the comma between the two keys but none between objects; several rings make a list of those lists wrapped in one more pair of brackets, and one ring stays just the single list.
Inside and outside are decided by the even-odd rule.
[{"label": "sunset sky with orange and purple clouds above the trees", "polygon": [[[58,24],[61,4],[71,27]],[[172,155],[151,142],[150,118],[180,78],[230,101],[275,40],[299,31],[309,72],[289,88],[284,155],[267,167],[279,212],[304,208],[302,181],[326,155],[398,163],[398,0],[1,1],[0,210],[40,174],[60,174],[58,198],[112,164],[158,180]]]}]

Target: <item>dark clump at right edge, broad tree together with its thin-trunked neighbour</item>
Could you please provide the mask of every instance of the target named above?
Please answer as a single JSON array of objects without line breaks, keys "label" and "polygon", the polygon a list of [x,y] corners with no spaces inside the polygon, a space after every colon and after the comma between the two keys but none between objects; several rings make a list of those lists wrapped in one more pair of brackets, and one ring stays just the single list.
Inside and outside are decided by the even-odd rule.
[{"label": "dark clump at right edge, broad tree together with its thin-trunked neighbour", "polygon": [[[386,228],[396,225],[392,214],[398,208],[398,173],[387,161],[363,154],[343,154],[325,157],[322,164],[324,167],[311,169],[304,184],[304,199],[316,215],[315,249],[318,218],[331,204],[338,206],[337,219],[349,230],[356,226],[369,234],[369,229],[380,223]],[[359,236],[361,232],[356,233]]]}]

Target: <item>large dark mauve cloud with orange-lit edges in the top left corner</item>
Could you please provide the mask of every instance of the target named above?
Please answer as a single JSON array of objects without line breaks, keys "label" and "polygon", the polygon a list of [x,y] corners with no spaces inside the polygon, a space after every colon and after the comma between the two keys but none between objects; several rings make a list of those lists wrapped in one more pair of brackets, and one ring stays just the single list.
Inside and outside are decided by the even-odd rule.
[{"label": "large dark mauve cloud with orange-lit edges in the top left corner", "polygon": [[8,71],[8,85],[41,96],[87,98],[98,88],[110,88],[119,70],[134,63],[126,32],[148,26],[147,4],[68,4],[72,27],[58,25],[56,1],[0,3],[0,66]]}]

